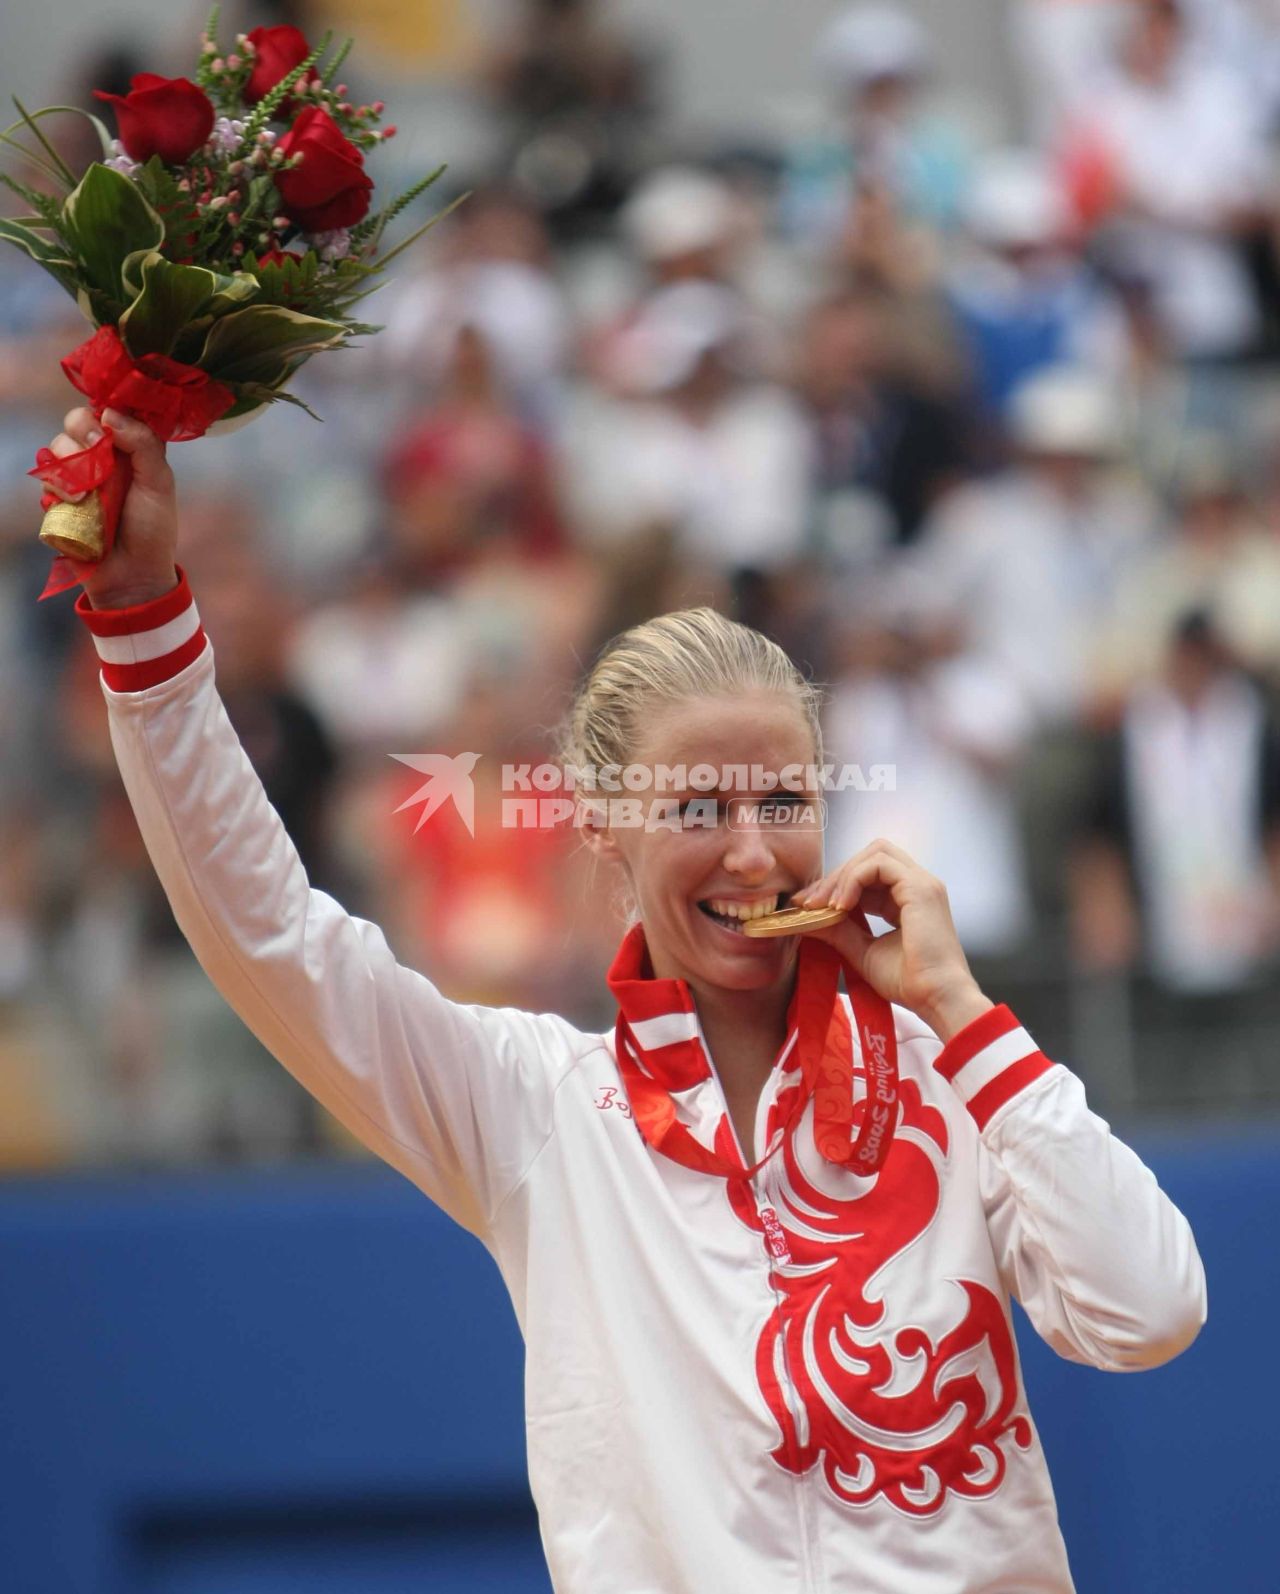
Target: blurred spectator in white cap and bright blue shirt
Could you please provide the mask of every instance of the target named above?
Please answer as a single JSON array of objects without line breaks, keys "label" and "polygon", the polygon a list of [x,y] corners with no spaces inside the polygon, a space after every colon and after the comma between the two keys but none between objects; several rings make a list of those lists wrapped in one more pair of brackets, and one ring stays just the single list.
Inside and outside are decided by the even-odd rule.
[{"label": "blurred spectator in white cap and bright blue shirt", "polygon": [[964,222],[971,247],[953,257],[947,296],[988,416],[1003,416],[1014,391],[1047,365],[1108,376],[1122,368],[1124,312],[1076,255],[1066,194],[1047,161],[1025,150],[987,156]]}]

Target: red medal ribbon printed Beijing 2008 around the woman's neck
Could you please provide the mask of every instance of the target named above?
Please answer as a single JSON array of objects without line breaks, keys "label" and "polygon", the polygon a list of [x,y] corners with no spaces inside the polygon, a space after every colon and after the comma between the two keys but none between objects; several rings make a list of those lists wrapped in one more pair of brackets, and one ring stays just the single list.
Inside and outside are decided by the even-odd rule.
[{"label": "red medal ribbon printed Beijing 2008 around the woman's neck", "polygon": [[[636,926],[639,929],[639,926]],[[633,931],[631,936],[636,932]],[[641,932],[642,934],[642,932]],[[628,952],[615,963],[618,969]],[[630,948],[634,956],[634,944]],[[853,1003],[858,1039],[867,1074],[867,1093],[861,1103],[861,1122],[854,1109],[853,1093],[853,1036],[845,1009],[838,1001],[840,972]],[[611,987],[625,1001],[634,1001],[638,982],[611,976]],[[658,982],[655,982],[658,983]],[[660,982],[677,988],[682,1011],[692,1012],[693,1003],[684,980]],[[644,1014],[649,1017],[650,1014]],[[787,1036],[795,1033],[799,1066],[803,1090],[792,1093],[791,1109],[781,1125],[783,1133],[813,1097],[813,1138],[819,1152],[853,1173],[872,1175],[880,1170],[889,1154],[897,1121],[897,1039],[893,1025],[893,1009],[866,980],[826,942],[805,939],[800,945],[795,974],[795,990],[787,1009]],[[770,1156],[749,1168],[743,1167],[728,1119],[722,1119],[714,1148],[705,1146],[679,1121],[671,1092],[639,1065],[644,1050],[636,1041],[625,1011],[618,1011],[615,1046],[618,1071],[626,1086],[636,1125],[655,1151],[698,1173],[716,1173],[720,1178],[751,1176]],[[693,1047],[701,1050],[698,1042]],[[673,1047],[674,1050],[674,1047]],[[668,1065],[669,1068],[669,1065]],[[708,1070],[709,1073],[709,1070]],[[690,1084],[693,1079],[690,1078]]]}]

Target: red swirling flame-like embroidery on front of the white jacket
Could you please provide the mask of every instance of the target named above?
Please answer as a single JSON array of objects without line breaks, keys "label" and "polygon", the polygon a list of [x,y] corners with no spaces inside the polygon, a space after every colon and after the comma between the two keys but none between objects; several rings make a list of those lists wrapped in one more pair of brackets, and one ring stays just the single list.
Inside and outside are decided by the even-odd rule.
[{"label": "red swirling flame-like embroidery on front of the white jacket", "polygon": [[[797,1160],[805,1129],[787,1135],[772,1194],[791,1261],[773,1264],[783,1301],[760,1334],[756,1372],[783,1435],[773,1452],[783,1468],[799,1476],[821,1462],[832,1492],[851,1505],[881,1495],[931,1516],[947,1494],[995,1494],[1007,1466],[1003,1446],[1025,1449],[1031,1425],[1014,1414],[1014,1339],[988,1288],[937,1277],[933,1288],[955,1296],[960,1320],[936,1344],[921,1328],[888,1329],[888,1296],[901,1285],[880,1275],[937,1216],[936,1160],[947,1154],[942,1114],[921,1101],[915,1081],[901,1089],[902,1116],[878,1178],[832,1175],[850,1184],[848,1199],[805,1176]],[[733,1180],[728,1191],[736,1215],[764,1232],[751,1188]]]}]

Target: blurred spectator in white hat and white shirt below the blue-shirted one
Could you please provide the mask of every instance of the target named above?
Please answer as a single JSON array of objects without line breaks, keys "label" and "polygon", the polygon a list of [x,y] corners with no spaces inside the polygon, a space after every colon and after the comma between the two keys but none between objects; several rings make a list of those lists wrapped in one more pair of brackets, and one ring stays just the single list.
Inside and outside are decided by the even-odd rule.
[{"label": "blurred spectator in white hat and white shirt below the blue-shirted one", "polygon": [[944,499],[904,580],[963,622],[966,649],[1009,673],[1038,722],[1063,724],[1090,708],[1097,639],[1154,510],[1114,469],[1124,438],[1101,378],[1041,371],[1009,426],[1017,461]]}]

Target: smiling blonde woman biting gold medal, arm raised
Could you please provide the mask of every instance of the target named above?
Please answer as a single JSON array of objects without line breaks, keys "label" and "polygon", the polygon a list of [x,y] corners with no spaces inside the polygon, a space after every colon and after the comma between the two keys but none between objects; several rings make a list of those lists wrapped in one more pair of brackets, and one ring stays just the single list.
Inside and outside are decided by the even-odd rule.
[{"label": "smiling blonde woman biting gold medal, arm raised", "polygon": [[[638,909],[615,1028],[451,1003],[308,886],[217,695],[163,450],[108,419],[134,481],[78,612],[156,872],[261,1041],[493,1253],[560,1594],[1066,1594],[1009,1298],[1062,1355],[1132,1371],[1196,1337],[1203,1274],[1079,1081],[977,988],[942,885],[888,842],[824,872],[813,827],[741,792],[698,826],[598,808],[583,834]],[[56,451],[92,427],[72,411]],[[705,609],[606,650],[569,751],[762,791],[819,760],[794,666]],[[854,912],[743,931],[784,902]]]}]

